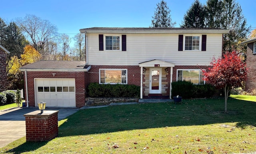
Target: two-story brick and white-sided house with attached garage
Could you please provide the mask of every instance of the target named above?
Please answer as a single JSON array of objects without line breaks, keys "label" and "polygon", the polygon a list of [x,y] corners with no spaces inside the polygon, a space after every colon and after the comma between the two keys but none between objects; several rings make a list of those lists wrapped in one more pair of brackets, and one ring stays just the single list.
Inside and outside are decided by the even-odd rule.
[{"label": "two-story brick and white-sided house with attached garage", "polygon": [[82,107],[86,86],[135,84],[140,98],[170,98],[171,83],[202,80],[202,69],[222,54],[222,34],[208,28],[85,28],[85,62],[38,61],[21,68],[29,106]]}]

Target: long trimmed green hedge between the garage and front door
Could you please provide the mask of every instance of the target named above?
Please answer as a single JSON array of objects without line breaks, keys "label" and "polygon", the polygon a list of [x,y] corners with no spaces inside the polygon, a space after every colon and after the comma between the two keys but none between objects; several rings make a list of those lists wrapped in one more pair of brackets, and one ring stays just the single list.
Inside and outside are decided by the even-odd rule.
[{"label": "long trimmed green hedge between the garage and front door", "polygon": [[90,97],[94,98],[139,98],[140,86],[90,83],[88,86],[88,94]]}]

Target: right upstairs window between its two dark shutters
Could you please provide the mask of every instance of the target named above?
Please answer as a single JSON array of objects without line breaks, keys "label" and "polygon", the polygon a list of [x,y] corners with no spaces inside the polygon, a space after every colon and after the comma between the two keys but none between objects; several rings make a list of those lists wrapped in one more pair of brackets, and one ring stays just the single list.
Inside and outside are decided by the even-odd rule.
[{"label": "right upstairs window between its two dark shutters", "polygon": [[200,36],[185,36],[185,50],[200,50]]}]

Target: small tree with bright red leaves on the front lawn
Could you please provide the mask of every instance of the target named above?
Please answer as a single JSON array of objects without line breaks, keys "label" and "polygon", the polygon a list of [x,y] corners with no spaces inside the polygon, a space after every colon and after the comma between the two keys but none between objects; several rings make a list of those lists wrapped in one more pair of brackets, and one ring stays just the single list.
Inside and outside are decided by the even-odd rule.
[{"label": "small tree with bright red leaves on the front lawn", "polygon": [[223,88],[225,92],[225,112],[227,112],[228,92],[231,88],[242,86],[246,81],[246,64],[242,61],[240,55],[236,52],[226,52],[222,57],[212,58],[209,71],[202,70],[204,80],[214,82],[216,87]]}]

